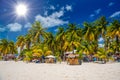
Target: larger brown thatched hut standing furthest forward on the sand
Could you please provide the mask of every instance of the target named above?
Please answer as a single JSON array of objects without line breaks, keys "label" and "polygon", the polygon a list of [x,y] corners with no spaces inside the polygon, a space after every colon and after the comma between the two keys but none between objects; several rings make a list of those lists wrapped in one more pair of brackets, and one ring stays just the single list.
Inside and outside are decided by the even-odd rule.
[{"label": "larger brown thatched hut standing furthest forward on the sand", "polygon": [[67,56],[67,63],[70,65],[79,65],[79,55],[78,54],[69,54]]}]

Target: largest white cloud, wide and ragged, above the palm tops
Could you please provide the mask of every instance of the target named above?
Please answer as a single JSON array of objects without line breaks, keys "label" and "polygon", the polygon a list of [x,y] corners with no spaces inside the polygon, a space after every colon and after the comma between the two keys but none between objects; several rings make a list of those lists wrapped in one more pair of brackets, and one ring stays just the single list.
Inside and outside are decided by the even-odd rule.
[{"label": "largest white cloud, wide and ragged, above the palm tops", "polygon": [[64,16],[64,12],[61,10],[46,17],[39,14],[35,17],[35,20],[40,21],[43,27],[54,27],[68,23],[68,21],[60,19],[62,16]]}]

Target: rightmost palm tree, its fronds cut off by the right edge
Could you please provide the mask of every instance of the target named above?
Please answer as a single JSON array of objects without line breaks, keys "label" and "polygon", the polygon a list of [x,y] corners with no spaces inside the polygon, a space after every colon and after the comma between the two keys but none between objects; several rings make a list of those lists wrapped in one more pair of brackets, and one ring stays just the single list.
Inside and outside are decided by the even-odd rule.
[{"label": "rightmost palm tree, its fronds cut off by the right edge", "polygon": [[111,24],[110,27],[108,28],[107,34],[111,37],[111,38],[115,38],[116,40],[116,53],[118,53],[119,50],[119,44],[120,44],[120,21],[118,20],[114,20]]}]

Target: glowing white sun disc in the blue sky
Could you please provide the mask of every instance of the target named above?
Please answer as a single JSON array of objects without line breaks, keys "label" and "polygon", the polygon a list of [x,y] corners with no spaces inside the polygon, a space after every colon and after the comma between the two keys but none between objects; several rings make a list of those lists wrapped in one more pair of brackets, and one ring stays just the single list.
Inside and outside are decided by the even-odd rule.
[{"label": "glowing white sun disc in the blue sky", "polygon": [[18,16],[25,16],[27,14],[27,6],[25,4],[18,4],[16,6],[16,14]]}]

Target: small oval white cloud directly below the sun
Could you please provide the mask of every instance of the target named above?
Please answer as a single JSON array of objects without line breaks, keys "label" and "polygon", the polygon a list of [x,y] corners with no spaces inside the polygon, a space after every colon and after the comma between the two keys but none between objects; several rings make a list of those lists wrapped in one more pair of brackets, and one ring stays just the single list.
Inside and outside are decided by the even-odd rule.
[{"label": "small oval white cloud directly below the sun", "polygon": [[7,25],[7,28],[12,32],[21,31],[22,25],[19,23],[11,23]]}]

